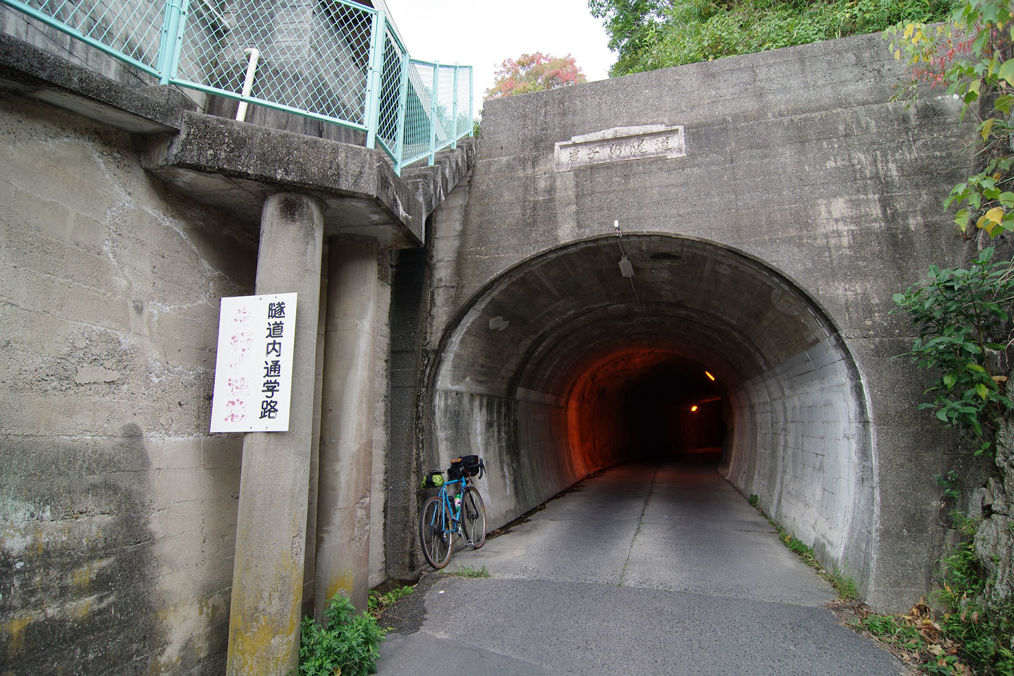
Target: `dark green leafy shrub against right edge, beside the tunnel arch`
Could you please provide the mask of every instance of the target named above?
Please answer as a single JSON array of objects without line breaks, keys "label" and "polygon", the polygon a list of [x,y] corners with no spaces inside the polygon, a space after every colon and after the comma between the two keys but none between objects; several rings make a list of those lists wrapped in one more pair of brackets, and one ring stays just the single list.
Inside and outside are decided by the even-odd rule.
[{"label": "dark green leafy shrub against right edge, beside the tunnel arch", "polygon": [[[976,440],[979,455],[991,451],[997,422],[1014,409],[993,373],[990,355],[1011,345],[1008,308],[1014,300],[1014,260],[993,262],[984,249],[967,270],[930,267],[929,281],[894,294],[892,312],[907,312],[916,327],[912,351],[922,369],[939,374],[926,390],[937,419]],[[901,355],[899,355],[901,356]]]}]

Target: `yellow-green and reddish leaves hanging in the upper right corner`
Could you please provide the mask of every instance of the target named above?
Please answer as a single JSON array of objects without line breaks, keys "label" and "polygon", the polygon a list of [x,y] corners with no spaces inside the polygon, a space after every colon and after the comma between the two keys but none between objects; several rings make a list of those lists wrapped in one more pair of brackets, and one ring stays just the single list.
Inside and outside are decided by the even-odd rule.
[{"label": "yellow-green and reddish leaves hanging in the upper right corner", "polygon": [[899,97],[915,100],[917,85],[947,87],[979,119],[982,171],[958,183],[945,202],[958,208],[962,234],[974,225],[990,236],[1014,230],[1010,117],[1014,109],[1014,8],[1009,0],[964,0],[939,26],[904,21],[885,30],[894,57],[912,69]]}]

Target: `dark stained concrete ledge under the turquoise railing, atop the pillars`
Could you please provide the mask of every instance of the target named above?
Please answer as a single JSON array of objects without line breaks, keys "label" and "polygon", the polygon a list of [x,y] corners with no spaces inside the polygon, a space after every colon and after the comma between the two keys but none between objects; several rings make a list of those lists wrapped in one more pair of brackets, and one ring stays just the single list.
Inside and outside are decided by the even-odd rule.
[{"label": "dark stained concrete ledge under the turquoise railing, atop the pillars", "polygon": [[138,137],[142,163],[191,198],[251,225],[279,191],[324,204],[324,236],[407,248],[425,241],[426,218],[475,163],[475,140],[434,166],[399,176],[379,150],[197,111],[172,86],[131,88],[10,35],[0,35],[0,89],[35,98]]}]

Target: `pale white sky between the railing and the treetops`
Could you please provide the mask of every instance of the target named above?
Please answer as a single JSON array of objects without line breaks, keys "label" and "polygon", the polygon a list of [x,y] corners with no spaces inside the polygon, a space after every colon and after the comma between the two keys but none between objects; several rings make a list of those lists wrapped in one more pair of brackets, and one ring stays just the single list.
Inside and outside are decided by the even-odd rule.
[{"label": "pale white sky between the railing and the treetops", "polygon": [[473,67],[476,111],[504,59],[570,54],[589,81],[608,77],[615,56],[588,0],[385,0],[416,59]]}]

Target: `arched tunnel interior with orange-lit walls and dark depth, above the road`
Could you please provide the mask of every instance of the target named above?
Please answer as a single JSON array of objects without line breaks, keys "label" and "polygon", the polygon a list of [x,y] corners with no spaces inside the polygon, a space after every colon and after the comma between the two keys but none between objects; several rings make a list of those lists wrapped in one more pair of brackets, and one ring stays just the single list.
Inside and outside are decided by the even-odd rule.
[{"label": "arched tunnel interior with orange-lit walls and dark depth, above the road", "polygon": [[604,467],[712,449],[824,565],[871,573],[862,378],[814,300],[741,251],[624,234],[532,256],[449,322],[428,392],[423,464],[481,455],[491,526]]}]

